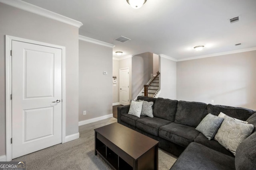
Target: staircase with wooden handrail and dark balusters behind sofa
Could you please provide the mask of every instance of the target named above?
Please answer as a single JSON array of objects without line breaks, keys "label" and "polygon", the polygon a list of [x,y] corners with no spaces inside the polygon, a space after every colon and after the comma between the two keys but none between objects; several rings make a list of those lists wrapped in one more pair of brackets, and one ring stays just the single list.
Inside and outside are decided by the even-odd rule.
[{"label": "staircase with wooden handrail and dark balusters behind sofa", "polygon": [[160,72],[157,72],[156,76],[153,80],[149,83],[144,85],[144,96],[154,98],[156,97],[157,93],[159,92],[159,82],[160,82]]}]

